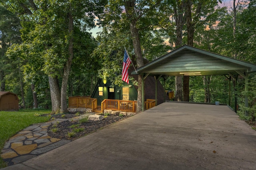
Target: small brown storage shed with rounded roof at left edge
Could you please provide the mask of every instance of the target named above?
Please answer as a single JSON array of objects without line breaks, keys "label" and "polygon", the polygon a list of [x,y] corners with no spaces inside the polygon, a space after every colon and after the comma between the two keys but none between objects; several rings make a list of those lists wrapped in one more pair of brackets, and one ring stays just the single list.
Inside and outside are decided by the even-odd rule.
[{"label": "small brown storage shed with rounded roof at left edge", "polygon": [[19,98],[12,92],[0,92],[0,111],[19,110]]}]

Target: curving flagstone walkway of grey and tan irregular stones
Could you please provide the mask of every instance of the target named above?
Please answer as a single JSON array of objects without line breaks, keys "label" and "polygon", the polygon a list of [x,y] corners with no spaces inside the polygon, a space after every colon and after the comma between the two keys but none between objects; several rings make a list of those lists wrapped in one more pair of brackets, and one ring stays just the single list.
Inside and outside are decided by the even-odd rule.
[{"label": "curving flagstone walkway of grey and tan irregular stones", "polygon": [[[73,117],[72,120],[79,118],[80,116]],[[45,123],[36,123],[23,129],[4,145],[1,157],[10,166],[69,143],[70,140],[52,138],[47,135],[48,126],[66,120],[68,119],[55,119]]]}]

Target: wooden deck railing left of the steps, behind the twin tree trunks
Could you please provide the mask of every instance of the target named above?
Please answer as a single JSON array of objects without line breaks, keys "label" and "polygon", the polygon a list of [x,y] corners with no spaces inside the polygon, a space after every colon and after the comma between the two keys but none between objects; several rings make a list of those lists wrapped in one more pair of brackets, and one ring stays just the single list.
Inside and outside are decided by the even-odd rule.
[{"label": "wooden deck railing left of the steps, behind the twin tree trunks", "polygon": [[68,107],[84,107],[91,108],[92,111],[97,109],[97,99],[90,96],[72,96],[68,97]]}]

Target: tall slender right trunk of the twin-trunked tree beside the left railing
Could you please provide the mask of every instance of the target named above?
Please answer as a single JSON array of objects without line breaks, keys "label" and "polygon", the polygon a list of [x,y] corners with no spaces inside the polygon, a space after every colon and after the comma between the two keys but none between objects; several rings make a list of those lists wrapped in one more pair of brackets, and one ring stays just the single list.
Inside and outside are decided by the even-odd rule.
[{"label": "tall slender right trunk of the twin-trunked tree beside the left railing", "polygon": [[68,86],[68,77],[70,74],[72,59],[73,59],[73,31],[74,31],[74,19],[71,14],[71,4],[70,4],[70,11],[68,13],[68,31],[70,33],[70,39],[68,43],[68,60],[64,67],[64,73],[62,78],[62,86],[61,86],[61,98],[60,98],[60,113],[67,113],[68,106],[67,106],[67,86]]}]

